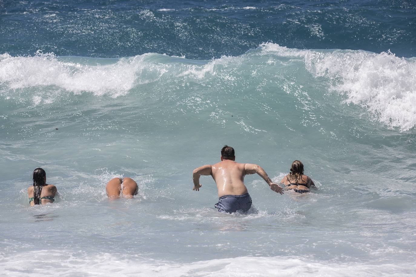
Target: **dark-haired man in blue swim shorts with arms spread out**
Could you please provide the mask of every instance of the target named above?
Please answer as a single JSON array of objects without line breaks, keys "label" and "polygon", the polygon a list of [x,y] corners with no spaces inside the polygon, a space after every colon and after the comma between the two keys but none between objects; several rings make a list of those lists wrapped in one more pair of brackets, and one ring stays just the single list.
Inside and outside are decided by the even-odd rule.
[{"label": "dark-haired man in blue swim shorts with arms spread out", "polygon": [[221,149],[221,162],[203,165],[193,171],[192,190],[199,191],[199,177],[211,175],[218,188],[218,203],[215,208],[219,212],[234,213],[235,211],[247,212],[251,207],[251,197],[244,185],[246,174],[259,174],[273,191],[283,194],[283,189],[270,180],[267,173],[257,164],[240,164],[235,162],[234,148],[225,145]]}]

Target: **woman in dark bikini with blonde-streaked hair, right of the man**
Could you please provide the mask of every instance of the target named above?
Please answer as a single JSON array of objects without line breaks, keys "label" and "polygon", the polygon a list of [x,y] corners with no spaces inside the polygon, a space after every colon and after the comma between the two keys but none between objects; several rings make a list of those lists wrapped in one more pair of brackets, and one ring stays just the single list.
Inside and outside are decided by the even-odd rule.
[{"label": "woman in dark bikini with blonde-streaked hair, right of the man", "polygon": [[298,160],[292,162],[290,173],[283,177],[280,184],[285,185],[286,189],[293,189],[293,191],[301,194],[309,192],[311,187],[315,187],[312,179],[303,175],[303,164]]}]

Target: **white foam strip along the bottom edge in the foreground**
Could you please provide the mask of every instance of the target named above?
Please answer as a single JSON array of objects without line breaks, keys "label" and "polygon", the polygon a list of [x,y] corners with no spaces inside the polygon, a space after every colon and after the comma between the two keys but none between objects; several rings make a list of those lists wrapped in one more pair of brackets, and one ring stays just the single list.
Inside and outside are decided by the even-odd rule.
[{"label": "white foam strip along the bottom edge in the foreground", "polygon": [[139,255],[62,250],[28,251],[0,257],[4,276],[414,276],[416,273],[416,265],[407,263],[335,263],[301,257],[169,262]]}]

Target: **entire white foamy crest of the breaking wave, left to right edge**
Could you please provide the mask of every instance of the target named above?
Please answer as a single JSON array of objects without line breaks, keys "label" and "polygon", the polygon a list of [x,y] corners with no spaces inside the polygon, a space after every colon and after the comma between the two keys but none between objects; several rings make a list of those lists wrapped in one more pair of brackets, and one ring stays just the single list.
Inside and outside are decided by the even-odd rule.
[{"label": "entire white foamy crest of the breaking wave, left to right edge", "polygon": [[[53,54],[27,57],[2,54],[0,84],[12,90],[53,86],[74,94],[91,92],[96,96],[118,97],[140,84],[158,81],[163,75],[201,80],[220,76],[224,68],[244,70],[247,64],[260,62],[266,54],[304,63],[314,77],[323,77],[317,82],[327,83],[329,90],[346,96],[346,103],[361,105],[391,128],[406,131],[416,125],[414,58],[399,58],[390,52],[290,49],[274,43],[263,43],[259,50],[198,62],[149,53],[114,60],[113,64],[107,61],[106,65],[64,62]],[[228,81],[235,78],[232,74],[227,76]],[[45,95],[41,91],[32,96],[34,105],[54,101],[53,93],[57,92]],[[11,95],[3,90],[2,96],[10,99]]]}]

